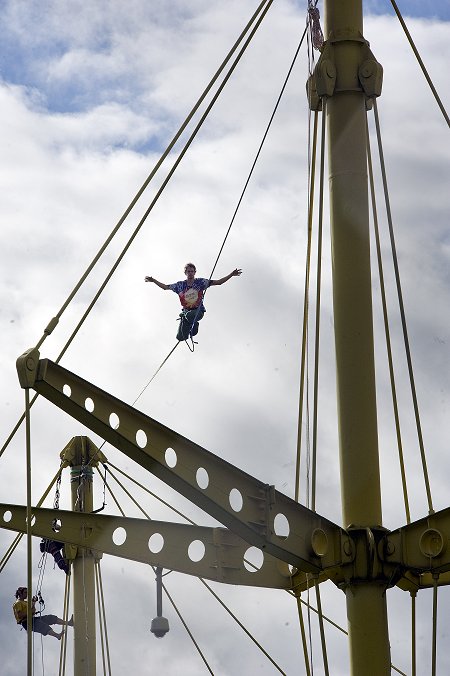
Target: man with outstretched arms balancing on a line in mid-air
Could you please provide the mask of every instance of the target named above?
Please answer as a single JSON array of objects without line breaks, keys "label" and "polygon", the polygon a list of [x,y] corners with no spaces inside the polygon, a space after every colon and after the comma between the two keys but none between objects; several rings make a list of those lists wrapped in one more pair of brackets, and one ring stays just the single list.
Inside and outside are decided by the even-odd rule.
[{"label": "man with outstretched arms balancing on a line in mid-air", "polygon": [[226,277],[221,279],[204,279],[196,277],[196,267],[193,263],[186,263],[184,274],[186,279],[174,284],[163,284],[154,277],[146,277],[146,282],[153,282],[164,291],[174,291],[178,294],[183,310],[180,313],[180,326],[178,328],[177,340],[187,340],[189,336],[195,336],[198,333],[198,323],[206,312],[203,305],[203,294],[210,286],[220,286],[232,277],[238,277],[242,270],[236,268]]}]

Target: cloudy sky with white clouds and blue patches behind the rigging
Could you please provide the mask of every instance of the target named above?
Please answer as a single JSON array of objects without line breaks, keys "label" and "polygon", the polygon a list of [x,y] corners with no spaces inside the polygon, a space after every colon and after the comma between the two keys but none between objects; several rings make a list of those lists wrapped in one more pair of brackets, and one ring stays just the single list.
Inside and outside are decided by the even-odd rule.
[{"label": "cloudy sky with white clouds and blue patches behind the rigging", "polygon": [[[23,410],[17,356],[40,339],[257,4],[256,0],[1,2],[2,442]],[[303,32],[305,6],[275,0],[211,116],[63,358],[66,368],[124,401],[136,399],[175,343],[178,300],[144,284],[144,276],[176,281],[183,277],[188,260],[196,263],[200,276],[209,276]],[[448,110],[448,2],[403,0],[399,6]],[[379,112],[391,207],[434,507],[442,509],[448,505],[450,477],[448,127],[390,3],[369,1],[366,13],[365,37],[385,71]],[[180,345],[137,403],[148,415],[291,497],[306,252],[307,72],[304,46],[215,273],[219,277],[240,267],[242,276],[208,292],[195,353]],[[182,143],[64,312],[43,345],[42,356],[57,358],[181,148]],[[380,192],[380,211],[381,204]],[[426,514],[427,503],[386,223],[384,217],[380,220],[411,516],[418,519]],[[324,229],[316,506],[340,523],[328,217]],[[373,277],[383,516],[387,528],[396,528],[405,516],[375,271]],[[312,401],[312,345],[310,357]],[[57,470],[59,452],[80,434],[101,443],[49,403],[37,402],[32,413],[34,502]],[[306,436],[304,429],[304,446]],[[111,462],[198,523],[213,523],[114,448],[105,446],[104,451]],[[0,459],[1,502],[25,503],[24,460],[21,429]],[[95,490],[100,506],[99,482]],[[127,514],[140,516],[119,493]],[[136,491],[136,497],[152,518],[177,520],[142,492]],[[305,502],[305,482],[301,497]],[[61,505],[67,508],[69,500],[69,479],[64,476]],[[51,503],[49,499],[46,504]],[[109,496],[107,503],[108,511],[117,513]],[[0,533],[2,555],[11,537]],[[35,543],[36,580],[38,559]],[[155,589],[147,566],[105,557],[102,570],[113,673],[206,673],[168,602],[164,614],[171,632],[163,641],[150,634]],[[26,637],[14,626],[10,605],[16,587],[25,580],[21,546],[0,578],[5,676],[24,673]],[[172,573],[166,581],[214,673],[275,673],[198,580]],[[63,582],[60,571],[48,566],[42,593],[49,612],[62,612]],[[219,585],[214,589],[284,672],[303,673],[296,607],[287,594]],[[325,614],[345,628],[341,592],[326,584],[322,595]],[[448,673],[446,590],[440,599],[438,671]],[[392,590],[388,606],[392,661],[410,673],[409,596]],[[428,673],[429,594],[420,596],[418,610],[418,673]],[[344,676],[346,638],[333,626],[326,632],[330,671]],[[54,644],[51,638],[44,641],[49,674],[56,670]],[[314,673],[323,673],[314,614],[311,644]],[[42,671],[40,650],[36,641],[36,673]]]}]

